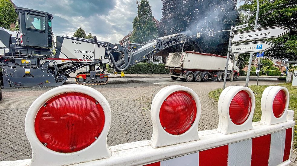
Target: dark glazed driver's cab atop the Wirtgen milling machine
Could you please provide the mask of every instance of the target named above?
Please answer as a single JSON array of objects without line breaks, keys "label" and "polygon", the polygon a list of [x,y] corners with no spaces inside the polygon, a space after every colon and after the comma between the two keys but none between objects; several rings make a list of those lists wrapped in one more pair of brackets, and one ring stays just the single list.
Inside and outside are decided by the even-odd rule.
[{"label": "dark glazed driver's cab atop the Wirtgen milling machine", "polygon": [[17,7],[23,46],[52,48],[53,15],[43,11]]}]

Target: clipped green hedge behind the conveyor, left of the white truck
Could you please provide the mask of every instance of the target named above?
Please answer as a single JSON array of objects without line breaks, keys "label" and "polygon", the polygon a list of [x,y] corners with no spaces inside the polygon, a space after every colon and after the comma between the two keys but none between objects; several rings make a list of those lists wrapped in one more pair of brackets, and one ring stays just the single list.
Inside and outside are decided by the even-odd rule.
[{"label": "clipped green hedge behind the conveyor, left of the white truck", "polygon": [[[109,66],[106,66],[110,72]],[[165,69],[164,64],[137,63],[124,71],[126,74],[169,74],[169,69]]]}]

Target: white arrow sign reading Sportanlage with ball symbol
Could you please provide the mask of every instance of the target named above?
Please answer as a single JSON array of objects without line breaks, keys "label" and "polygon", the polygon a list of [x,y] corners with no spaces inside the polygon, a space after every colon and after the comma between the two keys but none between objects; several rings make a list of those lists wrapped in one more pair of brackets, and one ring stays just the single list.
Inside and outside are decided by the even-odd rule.
[{"label": "white arrow sign reading Sportanlage with ball symbol", "polygon": [[244,31],[234,33],[232,36],[232,42],[240,41],[252,41],[267,38],[278,38],[286,33],[290,32],[290,29],[284,26],[272,26],[268,28],[256,29],[251,31]]}]

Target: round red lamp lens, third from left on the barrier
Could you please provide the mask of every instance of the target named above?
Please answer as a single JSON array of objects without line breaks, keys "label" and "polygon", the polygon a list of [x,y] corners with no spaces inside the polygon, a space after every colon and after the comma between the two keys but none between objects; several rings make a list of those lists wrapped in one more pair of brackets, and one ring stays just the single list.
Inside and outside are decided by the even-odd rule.
[{"label": "round red lamp lens, third from left on the barrier", "polygon": [[229,106],[229,116],[235,125],[243,124],[252,109],[252,100],[246,91],[239,91]]}]

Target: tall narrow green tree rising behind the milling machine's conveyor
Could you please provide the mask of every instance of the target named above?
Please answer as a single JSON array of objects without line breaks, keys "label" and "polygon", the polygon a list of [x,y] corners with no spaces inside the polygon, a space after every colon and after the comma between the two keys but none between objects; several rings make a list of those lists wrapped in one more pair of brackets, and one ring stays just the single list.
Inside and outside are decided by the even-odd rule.
[{"label": "tall narrow green tree rising behind the milling machine's conveyor", "polygon": [[157,26],[153,22],[152,6],[148,0],[137,2],[137,16],[133,20],[132,43],[145,42],[157,37]]}]

